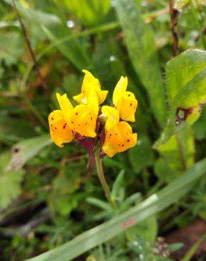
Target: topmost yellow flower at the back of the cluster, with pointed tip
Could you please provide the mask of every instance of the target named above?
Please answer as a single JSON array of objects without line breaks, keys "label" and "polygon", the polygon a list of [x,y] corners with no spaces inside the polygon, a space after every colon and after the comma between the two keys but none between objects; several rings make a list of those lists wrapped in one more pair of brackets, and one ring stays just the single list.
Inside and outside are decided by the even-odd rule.
[{"label": "topmost yellow flower at the back of the cluster, with pointed tip", "polygon": [[87,104],[88,98],[90,97],[91,92],[95,92],[98,99],[98,104],[102,104],[107,97],[107,90],[101,90],[101,85],[99,80],[95,78],[92,73],[87,70],[83,70],[85,77],[83,79],[83,85],[81,88],[81,93],[79,95],[73,96],[73,99],[80,104]]}]

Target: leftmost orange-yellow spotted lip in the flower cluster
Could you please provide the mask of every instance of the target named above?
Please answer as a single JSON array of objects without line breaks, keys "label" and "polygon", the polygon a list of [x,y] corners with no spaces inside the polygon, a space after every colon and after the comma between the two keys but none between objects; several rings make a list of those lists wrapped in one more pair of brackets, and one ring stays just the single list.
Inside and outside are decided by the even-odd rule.
[{"label": "leftmost orange-yellow spotted lip in the flower cluster", "polygon": [[68,143],[73,140],[73,131],[68,127],[68,123],[66,123],[63,118],[62,111],[52,111],[51,114],[49,114],[48,120],[51,138],[57,146],[63,147],[63,143]]}]

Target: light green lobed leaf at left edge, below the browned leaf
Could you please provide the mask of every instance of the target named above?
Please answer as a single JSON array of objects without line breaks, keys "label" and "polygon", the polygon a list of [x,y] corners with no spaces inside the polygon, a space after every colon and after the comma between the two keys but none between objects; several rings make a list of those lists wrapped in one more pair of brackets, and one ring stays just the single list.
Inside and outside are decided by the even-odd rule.
[{"label": "light green lobed leaf at left edge, below the browned leaf", "polygon": [[0,207],[5,208],[20,194],[20,183],[23,180],[23,169],[8,171],[9,153],[0,157]]}]

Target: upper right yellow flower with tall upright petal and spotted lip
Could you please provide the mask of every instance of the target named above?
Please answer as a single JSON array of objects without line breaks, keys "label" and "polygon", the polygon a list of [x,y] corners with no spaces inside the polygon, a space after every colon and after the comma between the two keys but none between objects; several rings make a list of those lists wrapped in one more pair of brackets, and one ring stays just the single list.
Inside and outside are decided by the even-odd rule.
[{"label": "upper right yellow flower with tall upright petal and spotted lip", "polygon": [[120,118],[123,121],[135,121],[135,111],[138,106],[138,101],[132,92],[126,92],[128,78],[121,76],[119,82],[114,88],[112,101],[119,111]]}]

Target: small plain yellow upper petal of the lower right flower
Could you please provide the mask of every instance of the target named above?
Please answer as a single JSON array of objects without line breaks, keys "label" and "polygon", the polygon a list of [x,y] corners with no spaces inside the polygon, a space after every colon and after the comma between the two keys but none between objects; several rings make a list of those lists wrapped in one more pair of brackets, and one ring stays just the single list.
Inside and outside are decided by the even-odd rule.
[{"label": "small plain yellow upper petal of the lower right flower", "polygon": [[119,121],[119,112],[114,107],[102,106],[102,114],[106,118],[104,129],[105,133],[107,133]]}]

